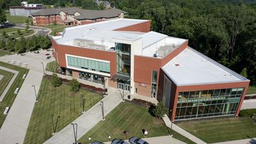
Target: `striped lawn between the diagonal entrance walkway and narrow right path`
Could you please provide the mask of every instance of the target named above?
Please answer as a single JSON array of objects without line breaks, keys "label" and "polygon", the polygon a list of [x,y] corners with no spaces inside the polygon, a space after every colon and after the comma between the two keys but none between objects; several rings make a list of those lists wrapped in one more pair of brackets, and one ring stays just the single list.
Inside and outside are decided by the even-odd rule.
[{"label": "striped lawn between the diagonal entrance walkway and narrow right path", "polygon": [[[142,129],[149,131],[148,137],[166,136],[168,130],[162,119],[156,119],[148,112],[148,108],[133,103],[125,102],[114,108],[110,114],[106,116],[105,121],[100,121],[87,134],[79,139],[81,143],[89,143],[88,138],[91,136],[92,141],[109,141],[107,136],[112,139],[126,139],[123,131],[127,130],[129,134],[127,138],[137,136],[145,138]],[[170,131],[171,132],[171,131]],[[188,141],[180,134],[173,132],[176,138]]]}]

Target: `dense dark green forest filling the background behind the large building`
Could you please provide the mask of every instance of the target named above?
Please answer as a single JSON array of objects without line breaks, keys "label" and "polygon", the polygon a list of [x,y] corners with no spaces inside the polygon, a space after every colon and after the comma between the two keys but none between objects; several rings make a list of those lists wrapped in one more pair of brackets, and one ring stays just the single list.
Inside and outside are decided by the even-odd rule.
[{"label": "dense dark green forest filling the background behind the large building", "polygon": [[[85,5],[93,0],[29,0],[42,1],[45,5],[97,9]],[[8,5],[6,2],[3,8]],[[111,5],[128,12],[127,18],[150,19],[153,31],[189,39],[189,46],[256,85],[255,0],[111,0]]]}]

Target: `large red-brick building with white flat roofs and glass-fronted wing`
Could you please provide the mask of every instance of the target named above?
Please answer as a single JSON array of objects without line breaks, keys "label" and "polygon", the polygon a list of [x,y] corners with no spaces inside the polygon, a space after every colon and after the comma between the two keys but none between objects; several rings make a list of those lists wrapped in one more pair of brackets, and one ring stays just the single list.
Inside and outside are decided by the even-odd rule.
[{"label": "large red-brick building with white flat roofs and glass-fronted wing", "polygon": [[67,75],[162,101],[173,121],[238,116],[250,81],[150,25],[112,19],[65,28],[52,37],[53,54]]}]

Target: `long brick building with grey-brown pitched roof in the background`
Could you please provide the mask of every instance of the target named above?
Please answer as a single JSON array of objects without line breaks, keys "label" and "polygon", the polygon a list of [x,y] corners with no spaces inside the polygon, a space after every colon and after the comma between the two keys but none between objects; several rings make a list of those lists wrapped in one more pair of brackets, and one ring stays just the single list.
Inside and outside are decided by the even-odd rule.
[{"label": "long brick building with grey-brown pitched roof in the background", "polygon": [[83,10],[81,8],[48,8],[32,15],[34,25],[50,25],[54,22],[65,25],[85,25],[107,19],[123,18],[127,14],[116,8],[109,10]]}]

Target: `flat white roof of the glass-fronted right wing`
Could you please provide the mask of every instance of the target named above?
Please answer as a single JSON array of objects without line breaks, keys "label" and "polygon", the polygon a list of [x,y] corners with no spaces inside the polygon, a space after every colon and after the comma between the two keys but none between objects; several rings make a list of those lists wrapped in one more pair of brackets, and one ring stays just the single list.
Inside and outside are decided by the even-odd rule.
[{"label": "flat white roof of the glass-fronted right wing", "polygon": [[249,81],[189,47],[169,61],[162,70],[176,85]]}]

